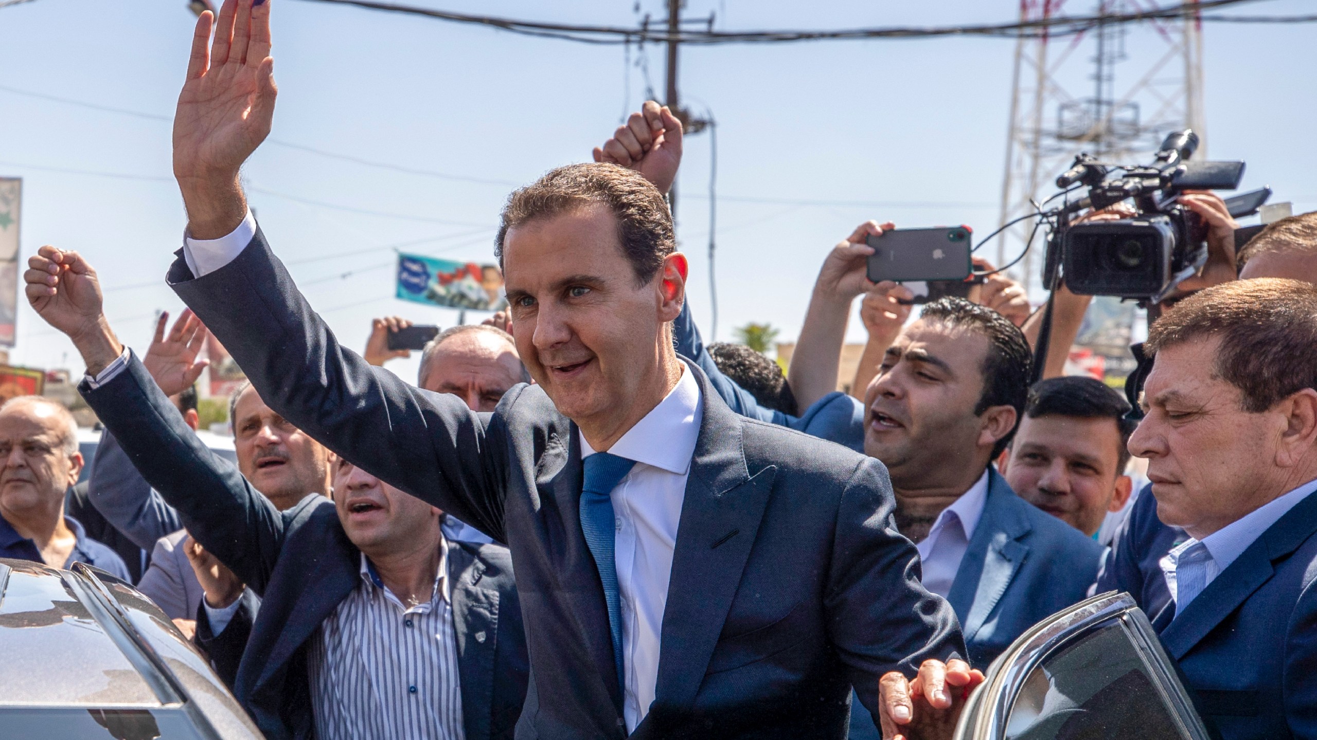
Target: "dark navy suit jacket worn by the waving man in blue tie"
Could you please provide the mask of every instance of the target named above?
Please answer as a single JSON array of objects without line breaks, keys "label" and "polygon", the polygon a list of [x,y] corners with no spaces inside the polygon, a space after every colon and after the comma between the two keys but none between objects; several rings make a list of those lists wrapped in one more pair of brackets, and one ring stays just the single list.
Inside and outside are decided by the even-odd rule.
[{"label": "dark navy suit jacket worn by the waving man in blue tie", "polygon": [[[494,413],[410,386],[338,345],[258,233],[169,280],[261,398],[362,469],[507,542],[531,653],[518,737],[622,737],[608,618],[581,532],[576,425],[537,386]],[[664,614],[657,697],[635,737],[844,737],[849,687],[963,654],[919,585],[877,461],[703,395]],[[262,616],[269,606],[262,606]]]}]

